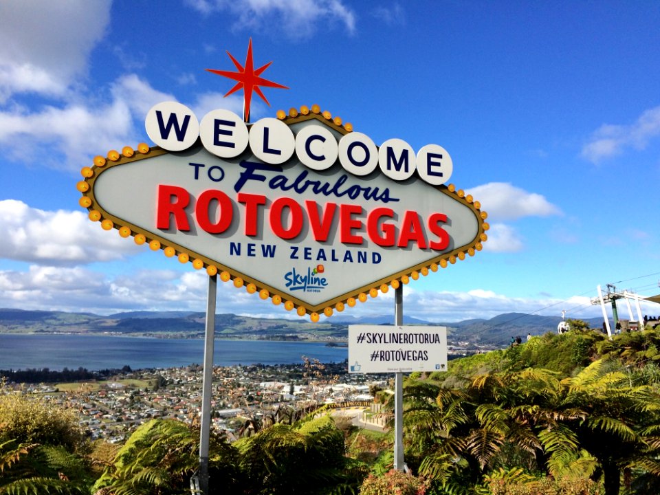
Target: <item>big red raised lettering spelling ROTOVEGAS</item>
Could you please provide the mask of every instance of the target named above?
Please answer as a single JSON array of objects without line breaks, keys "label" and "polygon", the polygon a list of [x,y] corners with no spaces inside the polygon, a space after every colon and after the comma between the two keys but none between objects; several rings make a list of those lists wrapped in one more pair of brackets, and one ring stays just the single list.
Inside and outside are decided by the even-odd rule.
[{"label": "big red raised lettering spelling ROTOVEGAS", "polygon": [[[221,234],[234,223],[234,212],[243,212],[243,232],[246,236],[259,236],[263,225],[259,223],[260,208],[272,233],[280,239],[295,239],[309,225],[311,237],[317,242],[327,242],[334,222],[338,221],[339,240],[344,244],[364,244],[365,238],[384,248],[397,246],[442,251],[448,248],[450,237],[443,224],[447,215],[435,212],[429,215],[426,226],[419,213],[406,210],[399,221],[392,208],[378,207],[364,212],[360,205],[324,203],[306,200],[303,207],[290,197],[270,201],[265,195],[239,192],[236,203],[243,208],[236,210],[236,203],[225,192],[208,189],[195,201],[194,215],[191,210],[192,195],[179,186],[158,186],[156,227],[162,230],[189,231],[193,216],[201,230],[209,234]],[[366,219],[364,218],[366,215]],[[239,219],[241,221],[241,219]],[[428,231],[427,231],[428,228]],[[429,236],[429,233],[434,236]]]}]

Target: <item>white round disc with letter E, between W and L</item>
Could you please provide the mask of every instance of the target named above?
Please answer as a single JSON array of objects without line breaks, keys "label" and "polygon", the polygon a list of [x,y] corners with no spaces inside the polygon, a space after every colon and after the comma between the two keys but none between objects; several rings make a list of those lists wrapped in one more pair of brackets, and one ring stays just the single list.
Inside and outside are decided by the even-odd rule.
[{"label": "white round disc with letter E, between W and L", "polygon": [[233,158],[248,147],[248,126],[232,111],[212,110],[199,122],[199,137],[209,153]]}]

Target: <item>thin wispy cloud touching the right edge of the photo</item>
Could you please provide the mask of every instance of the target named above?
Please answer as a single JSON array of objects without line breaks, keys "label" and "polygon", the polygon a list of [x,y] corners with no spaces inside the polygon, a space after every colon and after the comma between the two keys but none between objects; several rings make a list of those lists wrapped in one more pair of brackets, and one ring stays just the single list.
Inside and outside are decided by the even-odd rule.
[{"label": "thin wispy cloud touching the right edge of the photo", "polygon": [[582,157],[598,163],[619,155],[625,148],[643,150],[652,138],[660,135],[660,107],[644,111],[629,125],[603,124],[582,146]]}]

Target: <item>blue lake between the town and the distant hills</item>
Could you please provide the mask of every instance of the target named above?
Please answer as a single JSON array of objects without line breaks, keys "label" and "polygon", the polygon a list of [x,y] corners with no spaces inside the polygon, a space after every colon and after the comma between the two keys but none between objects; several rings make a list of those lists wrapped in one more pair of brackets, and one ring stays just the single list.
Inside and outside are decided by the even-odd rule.
[{"label": "blue lake between the town and the distant hills", "polygon": [[[214,347],[214,364],[219,366],[302,364],[303,355],[326,363],[348,358],[346,347],[320,342],[216,339]],[[5,370],[175,368],[203,360],[203,340],[0,333],[0,369]]]}]

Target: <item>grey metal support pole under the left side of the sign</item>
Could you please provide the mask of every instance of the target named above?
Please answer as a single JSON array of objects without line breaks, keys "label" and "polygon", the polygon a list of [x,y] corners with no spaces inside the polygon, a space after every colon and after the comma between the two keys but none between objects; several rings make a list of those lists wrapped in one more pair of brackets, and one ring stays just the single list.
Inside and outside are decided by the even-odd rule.
[{"label": "grey metal support pole under the left side of the sign", "polygon": [[199,430],[199,488],[202,495],[208,495],[208,443],[211,433],[211,384],[213,381],[217,277],[217,275],[208,277],[208,293],[206,296],[206,340],[204,341],[204,376],[201,392],[201,426]]}]

